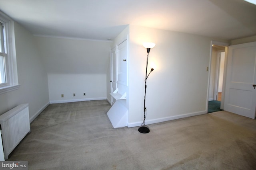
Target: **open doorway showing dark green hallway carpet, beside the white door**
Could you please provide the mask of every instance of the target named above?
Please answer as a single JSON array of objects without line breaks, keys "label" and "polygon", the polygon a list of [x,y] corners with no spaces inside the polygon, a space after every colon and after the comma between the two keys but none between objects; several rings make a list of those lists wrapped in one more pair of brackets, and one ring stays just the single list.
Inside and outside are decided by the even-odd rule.
[{"label": "open doorway showing dark green hallway carpet, beside the white door", "polygon": [[227,43],[212,41],[207,101],[208,113],[221,111],[223,109],[225,88],[225,56],[227,46]]}]

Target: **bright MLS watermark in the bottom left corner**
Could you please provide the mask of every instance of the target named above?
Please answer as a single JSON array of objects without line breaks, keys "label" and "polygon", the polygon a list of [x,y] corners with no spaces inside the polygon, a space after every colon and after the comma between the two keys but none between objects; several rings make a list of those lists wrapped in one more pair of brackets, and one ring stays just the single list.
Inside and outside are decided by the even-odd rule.
[{"label": "bright MLS watermark in the bottom left corner", "polygon": [[0,161],[0,170],[28,170],[28,161]]}]

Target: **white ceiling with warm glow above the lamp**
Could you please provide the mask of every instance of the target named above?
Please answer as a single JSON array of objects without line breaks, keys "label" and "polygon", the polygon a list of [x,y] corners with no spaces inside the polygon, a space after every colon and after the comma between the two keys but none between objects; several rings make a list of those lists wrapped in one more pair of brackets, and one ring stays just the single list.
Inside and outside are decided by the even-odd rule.
[{"label": "white ceiling with warm glow above the lamp", "polygon": [[232,40],[256,35],[244,0],[0,0],[34,35],[114,39],[128,24]]}]

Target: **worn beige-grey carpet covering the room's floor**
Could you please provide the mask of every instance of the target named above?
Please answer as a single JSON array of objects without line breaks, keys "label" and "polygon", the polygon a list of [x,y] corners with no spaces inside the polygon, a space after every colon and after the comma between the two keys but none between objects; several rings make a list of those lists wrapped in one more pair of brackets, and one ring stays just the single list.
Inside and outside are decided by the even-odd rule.
[{"label": "worn beige-grey carpet covering the room's floor", "polygon": [[105,100],[51,104],[9,156],[52,170],[255,170],[256,120],[226,111],[113,129]]}]

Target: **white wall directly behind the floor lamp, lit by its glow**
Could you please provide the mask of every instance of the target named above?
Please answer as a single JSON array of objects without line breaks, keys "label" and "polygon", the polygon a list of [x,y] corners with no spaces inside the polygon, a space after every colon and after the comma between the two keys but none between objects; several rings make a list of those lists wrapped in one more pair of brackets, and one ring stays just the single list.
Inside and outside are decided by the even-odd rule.
[{"label": "white wall directly behind the floor lamp, lit by its glow", "polygon": [[129,126],[143,120],[146,49],[149,53],[147,80],[147,123],[207,113],[206,102],[211,40],[208,37],[130,25]]}]

